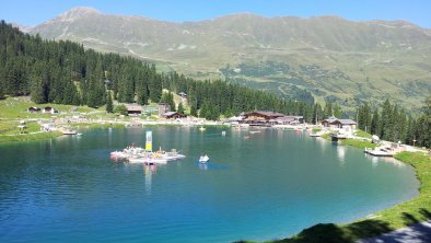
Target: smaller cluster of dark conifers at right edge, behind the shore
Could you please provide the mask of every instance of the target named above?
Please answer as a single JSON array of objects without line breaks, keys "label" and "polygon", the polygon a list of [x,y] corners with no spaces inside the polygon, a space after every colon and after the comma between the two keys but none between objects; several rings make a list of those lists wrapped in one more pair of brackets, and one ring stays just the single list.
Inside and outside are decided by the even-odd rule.
[{"label": "smaller cluster of dark conifers at right edge, behind the shore", "polygon": [[365,103],[358,108],[358,127],[383,140],[431,147],[431,96],[427,97],[419,117],[386,100],[381,108]]}]

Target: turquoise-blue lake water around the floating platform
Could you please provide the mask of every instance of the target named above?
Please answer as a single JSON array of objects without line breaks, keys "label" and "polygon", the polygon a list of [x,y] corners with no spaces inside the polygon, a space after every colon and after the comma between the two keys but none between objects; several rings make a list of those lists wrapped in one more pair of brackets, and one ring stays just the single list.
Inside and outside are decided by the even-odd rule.
[{"label": "turquoise-blue lake water around the floating platform", "polygon": [[[144,143],[187,158],[149,166],[109,152]],[[226,130],[222,137],[221,131]],[[232,242],[350,222],[418,195],[393,159],[306,131],[150,127],[0,144],[0,242]],[[244,139],[248,136],[248,139]],[[208,165],[199,155],[210,157]]]}]

